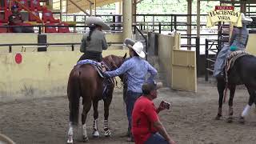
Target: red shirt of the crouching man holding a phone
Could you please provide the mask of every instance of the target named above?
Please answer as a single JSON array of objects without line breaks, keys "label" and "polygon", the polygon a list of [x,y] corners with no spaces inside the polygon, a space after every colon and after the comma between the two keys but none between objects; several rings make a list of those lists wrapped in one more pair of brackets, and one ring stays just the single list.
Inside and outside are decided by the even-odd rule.
[{"label": "red shirt of the crouching man holding a phone", "polygon": [[136,144],[143,144],[150,138],[150,134],[157,132],[153,126],[153,122],[157,121],[154,102],[142,95],[135,102],[132,114],[132,134]]}]

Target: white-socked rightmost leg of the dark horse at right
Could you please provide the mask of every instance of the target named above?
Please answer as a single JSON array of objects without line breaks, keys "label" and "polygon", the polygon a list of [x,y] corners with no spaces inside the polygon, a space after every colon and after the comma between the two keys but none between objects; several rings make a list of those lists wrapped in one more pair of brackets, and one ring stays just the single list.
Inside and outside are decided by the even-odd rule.
[{"label": "white-socked rightmost leg of the dark horse at right", "polygon": [[248,104],[246,105],[246,107],[242,111],[242,114],[241,114],[241,117],[240,117],[240,122],[241,123],[245,122],[245,117],[249,113],[250,106],[254,103],[254,99],[255,99],[255,90],[253,88],[251,88],[250,86],[247,86],[247,85],[246,85],[246,88],[247,88],[247,90],[250,94],[250,98],[249,98]]}]

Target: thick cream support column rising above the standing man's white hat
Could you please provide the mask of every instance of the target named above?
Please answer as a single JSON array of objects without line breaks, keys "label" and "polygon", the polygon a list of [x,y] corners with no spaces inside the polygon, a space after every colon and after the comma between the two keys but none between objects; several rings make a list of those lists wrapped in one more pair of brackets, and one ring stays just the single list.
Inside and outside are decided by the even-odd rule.
[{"label": "thick cream support column rising above the standing man's white hat", "polygon": [[133,1],[122,1],[122,38],[132,38],[132,6]]}]

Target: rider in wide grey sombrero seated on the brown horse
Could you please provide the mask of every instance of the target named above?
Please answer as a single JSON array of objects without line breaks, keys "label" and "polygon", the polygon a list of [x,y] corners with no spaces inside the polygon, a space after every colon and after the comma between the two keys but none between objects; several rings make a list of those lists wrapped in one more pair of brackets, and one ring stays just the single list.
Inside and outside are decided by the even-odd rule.
[{"label": "rider in wide grey sombrero seated on the brown horse", "polygon": [[103,22],[102,18],[99,17],[86,18],[86,25],[89,26],[90,32],[84,34],[82,37],[80,51],[84,54],[79,58],[79,61],[92,59],[101,62],[102,50],[106,50],[108,47],[105,34],[102,30],[110,30],[110,26]]}]

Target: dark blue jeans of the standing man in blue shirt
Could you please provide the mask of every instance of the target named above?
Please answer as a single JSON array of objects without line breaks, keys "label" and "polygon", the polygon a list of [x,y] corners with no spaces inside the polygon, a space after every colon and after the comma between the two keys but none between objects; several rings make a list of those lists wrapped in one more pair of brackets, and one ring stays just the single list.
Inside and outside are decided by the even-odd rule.
[{"label": "dark blue jeans of the standing man in blue shirt", "polygon": [[136,93],[133,91],[127,91],[126,93],[126,114],[127,114],[127,118],[128,118],[128,132],[131,135],[131,114],[134,110],[134,103],[136,102],[136,100],[142,95],[142,93]]}]

